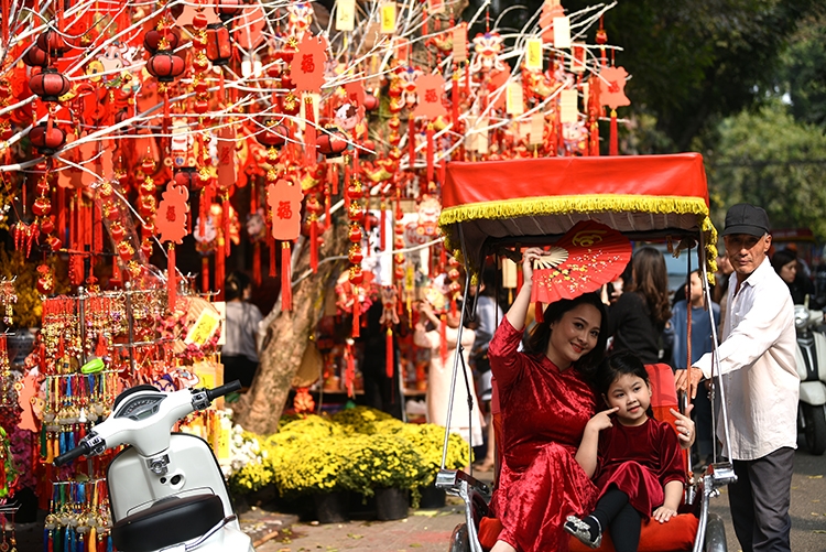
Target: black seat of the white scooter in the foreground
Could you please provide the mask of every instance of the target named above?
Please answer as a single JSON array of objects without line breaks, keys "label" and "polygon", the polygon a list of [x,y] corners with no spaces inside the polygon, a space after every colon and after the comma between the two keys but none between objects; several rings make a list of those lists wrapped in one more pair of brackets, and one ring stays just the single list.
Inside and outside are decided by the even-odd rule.
[{"label": "black seat of the white scooter in the foreground", "polygon": [[206,533],[224,519],[216,495],[166,497],[112,526],[112,544],[120,552],[151,552]]}]

